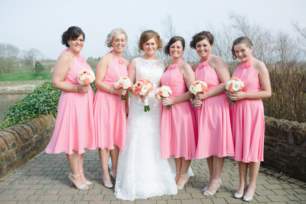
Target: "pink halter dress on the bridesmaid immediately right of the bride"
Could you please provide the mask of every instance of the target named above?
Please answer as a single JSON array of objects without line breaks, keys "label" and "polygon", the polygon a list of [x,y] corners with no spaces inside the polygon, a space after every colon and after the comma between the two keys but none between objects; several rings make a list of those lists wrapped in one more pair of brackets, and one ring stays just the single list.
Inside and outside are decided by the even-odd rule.
[{"label": "pink halter dress on the bridesmaid immediately right of the bride", "polygon": [[[179,61],[179,63],[183,58]],[[178,63],[178,64],[179,64]],[[175,98],[188,91],[184,76],[177,68],[178,64],[171,65],[161,77],[161,84],[170,86]],[[197,126],[191,102],[185,101],[171,105],[171,109],[162,106],[161,115],[161,156],[167,159],[174,155],[175,158],[194,158],[197,143]]]}]

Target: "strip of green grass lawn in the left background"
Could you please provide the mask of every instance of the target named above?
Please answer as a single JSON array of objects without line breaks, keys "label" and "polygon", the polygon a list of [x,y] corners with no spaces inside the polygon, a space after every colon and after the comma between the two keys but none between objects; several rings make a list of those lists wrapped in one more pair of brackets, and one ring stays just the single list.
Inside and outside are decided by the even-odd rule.
[{"label": "strip of green grass lawn in the left background", "polygon": [[19,72],[7,73],[0,75],[0,82],[16,82],[16,81],[51,81],[52,74],[50,71],[42,71],[37,77],[35,72]]}]

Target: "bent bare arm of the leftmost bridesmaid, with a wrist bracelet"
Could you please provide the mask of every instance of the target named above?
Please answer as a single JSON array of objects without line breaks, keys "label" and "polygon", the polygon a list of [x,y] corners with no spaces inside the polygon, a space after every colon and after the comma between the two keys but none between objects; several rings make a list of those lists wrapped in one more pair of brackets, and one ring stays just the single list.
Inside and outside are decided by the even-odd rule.
[{"label": "bent bare arm of the leftmost bridesmaid, with a wrist bracelet", "polygon": [[58,57],[56,64],[54,66],[54,72],[52,76],[53,87],[66,92],[87,93],[89,85],[72,85],[67,82],[64,82],[64,79],[69,71],[69,68],[71,68],[72,65],[73,65],[73,59],[69,56],[68,53],[64,53]]}]

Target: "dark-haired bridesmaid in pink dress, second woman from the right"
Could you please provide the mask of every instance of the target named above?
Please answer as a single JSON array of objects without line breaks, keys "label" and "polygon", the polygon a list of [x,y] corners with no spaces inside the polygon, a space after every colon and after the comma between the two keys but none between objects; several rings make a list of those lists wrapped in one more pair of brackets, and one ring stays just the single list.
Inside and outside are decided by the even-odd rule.
[{"label": "dark-haired bridesmaid in pink dress, second woman from the right", "polygon": [[214,37],[203,31],[195,34],[190,47],[201,60],[193,64],[196,80],[206,82],[208,91],[195,96],[195,114],[198,125],[196,159],[207,158],[209,182],[203,189],[211,196],[221,186],[220,175],[225,156],[234,156],[234,144],[230,121],[230,103],[225,93],[225,83],[230,79],[228,68],[221,57],[211,54]]}]

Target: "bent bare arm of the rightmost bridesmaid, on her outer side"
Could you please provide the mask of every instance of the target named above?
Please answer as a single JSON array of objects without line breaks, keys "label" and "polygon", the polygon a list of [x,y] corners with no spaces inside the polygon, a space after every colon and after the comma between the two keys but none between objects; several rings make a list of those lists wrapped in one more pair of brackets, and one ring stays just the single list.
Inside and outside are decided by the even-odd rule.
[{"label": "bent bare arm of the rightmost bridesmaid, on her outer side", "polygon": [[[271,96],[271,84],[268,69],[263,62],[258,61],[254,67],[258,73],[261,91],[255,93],[247,93],[243,91],[230,92],[230,99],[237,101],[240,99],[266,99]],[[242,89],[243,90],[243,89]]]}]

